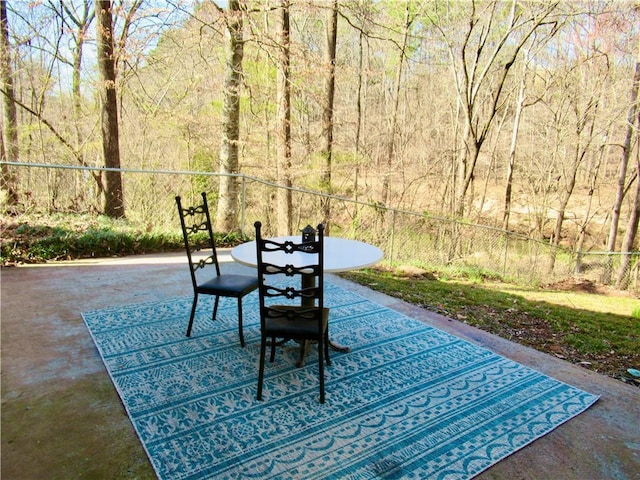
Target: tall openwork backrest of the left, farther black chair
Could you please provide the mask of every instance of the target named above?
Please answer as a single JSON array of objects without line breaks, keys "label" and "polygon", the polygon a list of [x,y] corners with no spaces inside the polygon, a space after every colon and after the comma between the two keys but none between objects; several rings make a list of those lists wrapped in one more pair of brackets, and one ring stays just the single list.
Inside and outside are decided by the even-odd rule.
[{"label": "tall openwork backrest of the left, farther black chair", "polygon": [[[187,251],[187,258],[191,270],[191,281],[194,286],[197,284],[196,271],[205,268],[207,265],[215,265],[216,275],[220,276],[220,265],[216,252],[216,243],[211,227],[211,216],[209,215],[209,205],[207,204],[207,194],[202,192],[202,204],[194,207],[184,208],[180,197],[176,197],[180,224],[182,225],[182,236],[184,247]],[[209,255],[205,258],[194,260],[193,254],[204,251]]]}]

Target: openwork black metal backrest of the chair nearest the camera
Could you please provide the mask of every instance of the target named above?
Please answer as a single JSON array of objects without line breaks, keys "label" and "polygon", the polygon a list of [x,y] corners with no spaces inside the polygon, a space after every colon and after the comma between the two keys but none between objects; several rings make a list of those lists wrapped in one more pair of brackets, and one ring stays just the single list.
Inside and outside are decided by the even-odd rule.
[{"label": "openwork black metal backrest of the chair nearest the camera", "polygon": [[[302,237],[299,242],[286,240],[276,242],[268,238],[263,238],[261,233],[262,224],[255,223],[256,228],[256,249],[258,260],[258,282],[260,293],[260,317],[282,317],[283,303],[290,304],[291,311],[286,312],[286,316],[294,318],[318,318],[322,321],[322,308],[324,307],[324,225],[317,228],[317,237],[310,235],[308,230],[305,239]],[[272,252],[282,252],[294,254],[300,252],[304,257],[302,263],[296,265],[291,262],[284,262],[279,265],[265,261],[265,254]],[[298,256],[299,257],[299,256]],[[308,262],[306,261],[308,257]],[[278,280],[278,277],[279,280]],[[282,282],[282,275],[286,277],[298,277],[299,282]],[[279,303],[283,302],[283,303]],[[270,305],[278,304],[272,308]],[[308,306],[309,310],[300,310],[300,305]],[[320,312],[320,313],[318,313]]]}]

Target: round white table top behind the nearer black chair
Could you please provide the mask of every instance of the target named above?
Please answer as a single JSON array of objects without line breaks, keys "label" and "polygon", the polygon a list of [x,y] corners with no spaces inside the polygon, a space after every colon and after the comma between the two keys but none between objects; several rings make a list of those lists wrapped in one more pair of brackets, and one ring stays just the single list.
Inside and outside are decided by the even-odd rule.
[{"label": "round white table top behind the nearer black chair", "polygon": [[[286,240],[299,243],[300,235],[289,237],[275,237],[274,240],[282,243]],[[271,252],[264,254],[265,262],[274,265],[302,266],[309,263],[310,254],[303,252],[284,253]],[[358,268],[370,267],[382,260],[382,250],[368,243],[346,238],[324,237],[324,271],[345,272]],[[238,245],[231,250],[231,257],[242,265],[257,267],[256,242],[251,241]]]}]

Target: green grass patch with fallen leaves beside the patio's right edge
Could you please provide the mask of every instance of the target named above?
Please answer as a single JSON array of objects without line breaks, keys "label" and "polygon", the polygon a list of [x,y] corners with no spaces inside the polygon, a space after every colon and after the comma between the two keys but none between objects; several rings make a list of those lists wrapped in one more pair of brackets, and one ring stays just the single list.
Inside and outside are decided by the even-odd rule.
[{"label": "green grass patch with fallen leaves beside the patio's right edge", "polygon": [[479,283],[473,275],[439,278],[367,269],[344,276],[617,378],[623,378],[627,368],[640,365],[640,322],[634,298]]}]

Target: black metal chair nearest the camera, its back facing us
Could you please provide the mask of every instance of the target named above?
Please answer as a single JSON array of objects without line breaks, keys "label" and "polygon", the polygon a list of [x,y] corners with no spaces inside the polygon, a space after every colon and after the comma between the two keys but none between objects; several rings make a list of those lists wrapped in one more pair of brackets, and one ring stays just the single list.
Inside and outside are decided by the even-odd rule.
[{"label": "black metal chair nearest the camera, its back facing us", "polygon": [[[255,223],[258,260],[258,293],[260,297],[260,370],[258,373],[258,400],[262,400],[262,384],[267,342],[270,340],[271,357],[275,359],[277,339],[292,339],[303,345],[309,341],[318,343],[318,368],[320,379],[320,403],[324,403],[324,364],[329,358],[329,309],[324,307],[324,226],[318,225],[316,235],[307,234],[300,243],[278,243],[262,238],[262,224]],[[274,265],[264,260],[264,254],[283,252],[309,254],[304,265]],[[290,282],[284,286],[283,275]],[[279,281],[278,281],[279,280]],[[299,280],[299,281],[298,281]],[[303,347],[304,348],[304,347]]]}]

